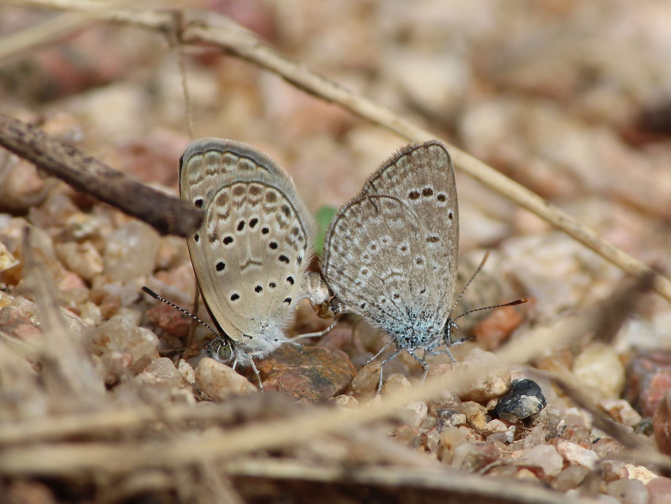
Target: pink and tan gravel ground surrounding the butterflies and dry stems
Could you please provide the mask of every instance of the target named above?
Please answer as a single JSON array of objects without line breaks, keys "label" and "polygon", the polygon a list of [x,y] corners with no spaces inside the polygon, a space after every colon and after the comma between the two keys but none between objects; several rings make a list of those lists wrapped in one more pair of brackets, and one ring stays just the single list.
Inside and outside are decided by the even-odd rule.
[{"label": "pink and tan gravel ground surrounding the butterflies and dry stems", "polygon": [[[62,5],[70,2],[76,4],[76,0],[58,0]],[[177,162],[190,136],[178,51],[170,38],[123,24],[92,22],[38,48],[3,58],[5,38],[62,15],[35,7],[36,3],[0,5],[0,111],[32,123],[113,168],[176,194]],[[200,7],[229,16],[281,54],[435,132],[437,137],[560,206],[639,260],[667,276],[671,271],[668,0],[211,0],[188,5],[126,2],[121,7]],[[334,208],[354,196],[368,174],[406,143],[216,48],[186,47],[184,62],[194,136],[247,142],[270,154],[292,175],[299,195],[322,227]],[[508,338],[535,325],[562,320],[594,306],[613,293],[623,279],[621,270],[600,256],[458,170],[457,187],[460,277],[467,279],[484,250],[491,250],[485,271],[466,293],[463,309],[521,296],[529,298],[529,303],[520,307],[482,311],[460,319],[460,336],[476,338],[455,348],[458,364],[469,364],[463,362],[467,360],[463,359],[465,352],[482,357],[478,354],[482,350],[474,346],[495,350]],[[32,227],[32,249],[38,262],[44,264],[40,272],[48,272],[54,280],[63,308],[61,314],[69,332],[66,338],[60,334],[61,340],[55,339],[58,332],[40,325],[36,317],[39,303],[34,303],[34,293],[23,276],[21,232],[25,225]],[[316,262],[313,268],[317,268]],[[463,284],[460,278],[459,287]],[[50,415],[76,416],[91,411],[105,415],[117,410],[133,413],[145,411],[148,405],[170,408],[201,404],[203,397],[193,384],[211,399],[224,402],[225,407],[230,394],[249,394],[246,399],[250,404],[256,399],[259,403],[274,400],[270,393],[257,394],[254,385],[230,368],[215,369],[207,364],[213,361],[207,359],[200,361],[204,366],[199,364],[203,339],[211,336],[205,327],[197,330],[200,340],[192,346],[195,351],[190,358],[183,354],[191,319],[168,305],[142,297],[143,285],[191,308],[195,283],[183,238],[159,236],[148,225],[46,177],[29,162],[0,150],[0,422],[13,426],[15,436],[7,445],[0,440],[2,450],[23,442],[16,453],[23,456],[21,450],[25,450],[30,456],[35,443],[30,433],[36,431],[24,431],[23,426],[46,425],[48,433]],[[207,317],[202,304],[199,315]],[[306,304],[299,310],[293,332],[319,330],[326,324]],[[415,401],[412,407],[417,414],[410,417],[414,420],[396,431],[395,425],[381,419],[376,422],[381,434],[378,438],[370,436],[371,440],[389,442],[394,437],[410,447],[410,452],[389,451],[388,447],[382,450],[384,444],[371,444],[370,448],[364,443],[369,436],[364,434],[352,438],[357,444],[352,450],[334,450],[333,446],[345,445],[334,444],[335,436],[329,436],[321,438],[326,444],[310,439],[305,446],[297,444],[295,451],[292,447],[277,453],[271,450],[272,457],[279,453],[310,464],[326,460],[342,464],[338,467],[350,474],[350,469],[360,467],[356,464],[364,452],[362,460],[384,464],[402,460],[404,466],[417,463],[423,470],[423,460],[420,466],[416,458],[419,450],[444,465],[475,470],[480,466],[468,465],[468,458],[462,457],[468,464],[454,462],[458,459],[452,458],[455,447],[461,445],[442,434],[444,429],[448,434],[450,429],[467,430],[469,440],[489,440],[489,444],[477,443],[487,450],[494,450],[498,443],[491,459],[495,460],[546,440],[554,442],[560,435],[560,422],[562,429],[567,427],[561,434],[562,442],[570,442],[572,449],[579,448],[583,454],[589,452],[586,448],[592,449],[590,464],[597,454],[607,457],[611,452],[619,454],[620,448],[624,450],[605,433],[592,429],[591,417],[573,407],[574,403],[562,391],[553,389],[536,368],[570,370],[590,399],[626,425],[627,432],[635,432],[646,446],[652,446],[651,417],[661,411],[656,414],[655,429],[661,425],[666,438],[661,436],[658,444],[671,453],[671,414],[667,407],[671,395],[662,402],[671,387],[669,327],[671,305],[656,294],[648,294],[613,342],[582,342],[539,358],[533,366],[504,369],[506,379],[501,380],[506,383],[501,390],[507,389],[511,376],[532,377],[548,400],[548,408],[539,413],[545,415],[539,417],[544,420],[533,431],[520,423],[515,434],[511,422],[504,425],[500,421],[508,427],[509,438],[503,432],[491,434],[484,427],[480,429],[498,421],[485,423],[485,414],[494,404],[488,399],[498,398],[500,391],[483,396],[486,400],[480,398],[481,405],[474,402],[478,399],[465,400],[466,413],[459,413],[463,420],[446,427],[449,415],[438,418],[437,412],[452,411],[456,415],[457,410],[451,408],[463,405],[458,397],[453,400],[443,396],[428,403]],[[282,346],[259,363],[266,391],[272,390],[272,385],[284,395],[299,399],[301,406],[309,403],[308,407],[329,402],[356,409],[359,404],[364,407],[374,403],[380,399],[373,399],[376,376],[370,372],[354,376],[383,342],[384,335],[350,318],[318,343],[321,348]],[[317,366],[317,354],[331,360],[325,358]],[[182,356],[186,360],[180,359]],[[433,358],[432,370],[440,369],[441,362],[447,362],[446,356]],[[421,376],[417,362],[407,355],[388,366],[385,376],[390,378],[382,388],[383,396],[410,389],[411,381],[417,383]],[[322,374],[317,376],[315,368]],[[452,370],[452,364],[445,364],[443,369],[447,368]],[[496,366],[493,369],[500,370]],[[212,379],[207,390],[205,376]],[[215,379],[220,380],[216,387],[212,385]],[[277,409],[282,415],[294,411],[285,406]],[[189,414],[194,411],[207,410],[193,408]],[[258,411],[217,416],[208,425],[224,424],[221,432],[225,435],[231,425],[265,415]],[[482,424],[475,427],[475,413],[468,416],[473,431],[466,427],[469,411],[476,411]],[[90,427],[85,422],[82,425]],[[186,427],[180,428],[186,432]],[[199,428],[194,427],[179,439],[201,439]],[[208,427],[203,432],[210,436],[215,431],[216,427]],[[168,444],[172,435],[172,427],[159,425],[156,429],[138,428],[138,432],[121,429],[117,434],[87,430],[80,436],[72,431],[57,440],[81,446],[93,439],[101,446],[107,442],[105,446],[112,448],[122,443],[136,448],[137,443],[142,449],[141,443],[146,440]],[[272,435],[281,436],[282,432]],[[488,436],[498,437],[492,441]],[[49,442],[48,438],[40,439]],[[461,442],[465,445],[466,438]],[[360,443],[364,444],[358,446]],[[588,473],[585,467],[593,468],[584,461],[562,458],[552,446],[537,448],[554,453],[558,460],[554,472],[543,475],[541,471],[537,477],[521,469],[528,474],[519,476],[515,464],[502,464],[499,475],[507,481],[540,479],[543,485],[563,491],[578,487]],[[58,458],[42,460],[36,453],[40,464],[52,463],[54,474],[60,474]],[[547,450],[536,453],[541,462],[549,460]],[[482,465],[491,461],[477,457]],[[9,457],[4,462],[0,458],[0,468],[30,458],[7,460]],[[74,461],[72,475],[68,475],[71,479],[36,481],[29,467],[25,480],[0,480],[0,495],[3,485],[7,485],[13,495],[19,495],[15,501],[21,503],[58,499],[140,502],[135,500],[136,481],[144,477],[148,485],[156,481],[156,474],[150,471],[111,478],[104,458],[100,460],[101,472],[88,475],[76,470],[79,460],[68,460]],[[238,464],[237,455],[233,462]],[[156,466],[162,467],[163,463],[159,460]],[[576,463],[583,466],[579,468]],[[177,461],[174,472],[159,474],[163,478],[159,487],[188,487],[193,495],[207,490],[208,479],[201,478],[199,471],[207,476],[207,470],[216,464],[210,459],[202,467],[187,464]],[[629,464],[639,474],[631,476],[633,472],[623,472],[624,462],[617,464],[604,464],[603,474],[610,470],[607,477],[612,480],[639,478],[645,483],[657,476]],[[118,467],[125,464],[119,462]],[[648,472],[641,472],[643,469]],[[569,476],[564,480],[555,478],[566,473]],[[666,482],[666,489],[671,487],[668,479],[658,479]],[[639,483],[639,487],[642,485]],[[268,491],[252,478],[248,487],[245,495]],[[618,489],[621,497],[624,493]],[[34,497],[40,495],[46,497]],[[189,495],[181,493],[179,499],[164,497],[156,502],[222,501],[197,501]],[[278,491],[277,495],[282,493]],[[366,499],[364,496],[362,501],[370,501]]]}]

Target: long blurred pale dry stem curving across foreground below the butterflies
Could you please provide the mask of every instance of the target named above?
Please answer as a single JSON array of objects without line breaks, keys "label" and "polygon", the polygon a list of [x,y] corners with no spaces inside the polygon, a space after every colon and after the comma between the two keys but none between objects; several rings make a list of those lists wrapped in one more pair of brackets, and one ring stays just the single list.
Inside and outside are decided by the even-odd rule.
[{"label": "long blurred pale dry stem curving across foreground below the butterflies", "polygon": [[[630,287],[626,288],[629,291]],[[521,364],[558,346],[599,329],[604,313],[613,303],[621,303],[621,291],[596,307],[573,317],[564,317],[552,327],[537,327],[509,342],[497,352],[506,365]],[[305,442],[323,433],[347,433],[353,427],[393,416],[411,401],[430,399],[443,391],[459,391],[466,383],[486,372],[491,364],[473,366],[458,376],[433,376],[421,387],[399,391],[379,403],[358,410],[316,409],[291,419],[250,423],[243,427],[211,434],[204,438],[169,442],[144,442],[132,445],[89,443],[8,448],[0,459],[4,474],[71,474],[76,470],[129,471],[146,467],[173,468],[199,460],[228,458],[256,450],[279,448]],[[282,432],[282,436],[277,433]]]}]

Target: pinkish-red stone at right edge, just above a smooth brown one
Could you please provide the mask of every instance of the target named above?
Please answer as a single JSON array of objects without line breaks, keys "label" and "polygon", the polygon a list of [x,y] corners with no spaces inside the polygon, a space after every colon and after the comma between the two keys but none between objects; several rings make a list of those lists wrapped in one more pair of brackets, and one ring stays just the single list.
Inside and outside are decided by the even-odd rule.
[{"label": "pinkish-red stone at right edge, just above a smooth brown one", "polygon": [[650,417],[671,389],[671,352],[650,352],[633,358],[627,366],[623,398],[643,417]]}]

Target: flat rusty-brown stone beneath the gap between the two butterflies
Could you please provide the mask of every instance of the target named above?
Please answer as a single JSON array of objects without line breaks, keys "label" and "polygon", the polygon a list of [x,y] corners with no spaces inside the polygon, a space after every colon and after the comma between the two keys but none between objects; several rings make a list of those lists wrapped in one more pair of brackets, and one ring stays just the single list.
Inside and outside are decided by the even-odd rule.
[{"label": "flat rusty-brown stone beneath the gap between the two butterflies", "polygon": [[264,389],[312,402],[344,393],[356,374],[341,350],[292,344],[281,346],[256,366]]}]

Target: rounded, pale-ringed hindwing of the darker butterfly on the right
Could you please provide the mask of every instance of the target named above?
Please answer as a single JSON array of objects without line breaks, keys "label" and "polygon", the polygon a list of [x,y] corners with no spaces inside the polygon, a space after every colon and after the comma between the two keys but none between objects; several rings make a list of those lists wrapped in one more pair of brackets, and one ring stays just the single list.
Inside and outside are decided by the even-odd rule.
[{"label": "rounded, pale-ringed hindwing of the darker butterfly on the right", "polygon": [[413,215],[393,197],[364,196],[340,209],[325,237],[322,272],[345,311],[389,330],[426,297],[427,289],[420,292],[426,270],[420,234]]}]

